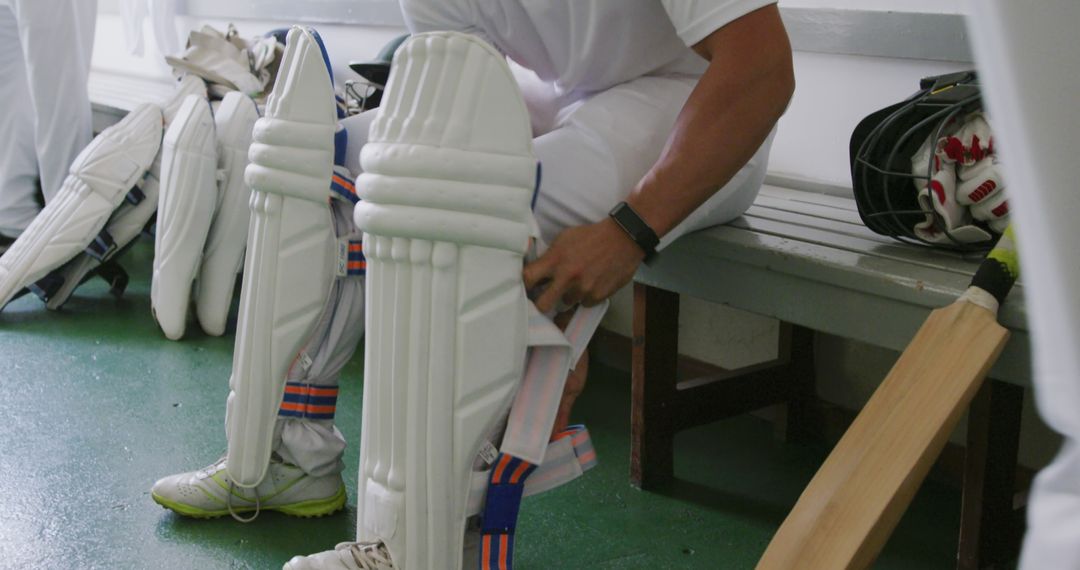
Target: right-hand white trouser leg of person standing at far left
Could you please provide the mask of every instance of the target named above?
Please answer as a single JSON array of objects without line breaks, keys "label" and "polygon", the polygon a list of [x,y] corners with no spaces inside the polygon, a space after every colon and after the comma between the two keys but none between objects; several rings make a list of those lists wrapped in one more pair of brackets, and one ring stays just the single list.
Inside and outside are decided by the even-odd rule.
[{"label": "right-hand white trouser leg of person standing at far left", "polygon": [[97,0],[12,0],[37,119],[35,145],[48,202],[90,142],[86,81]]}]

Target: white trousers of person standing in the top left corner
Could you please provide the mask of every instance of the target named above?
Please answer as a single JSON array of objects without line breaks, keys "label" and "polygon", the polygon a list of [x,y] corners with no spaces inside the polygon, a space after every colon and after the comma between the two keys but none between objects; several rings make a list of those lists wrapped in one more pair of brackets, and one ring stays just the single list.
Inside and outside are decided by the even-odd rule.
[{"label": "white trousers of person standing in the top left corner", "polygon": [[86,94],[97,0],[0,3],[0,233],[15,236],[90,142]]}]

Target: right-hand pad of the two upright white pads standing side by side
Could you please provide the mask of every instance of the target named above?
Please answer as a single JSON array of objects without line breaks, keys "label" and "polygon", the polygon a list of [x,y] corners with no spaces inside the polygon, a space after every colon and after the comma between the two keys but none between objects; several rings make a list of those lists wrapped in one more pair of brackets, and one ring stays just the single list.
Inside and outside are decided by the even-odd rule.
[{"label": "right-hand pad of the two upright white pads standing side by side", "polygon": [[214,118],[220,182],[195,295],[195,314],[207,335],[225,332],[237,274],[244,261],[252,212],[247,204],[252,193],[244,182],[244,168],[247,167],[252,130],[258,118],[255,101],[238,92],[225,96]]}]

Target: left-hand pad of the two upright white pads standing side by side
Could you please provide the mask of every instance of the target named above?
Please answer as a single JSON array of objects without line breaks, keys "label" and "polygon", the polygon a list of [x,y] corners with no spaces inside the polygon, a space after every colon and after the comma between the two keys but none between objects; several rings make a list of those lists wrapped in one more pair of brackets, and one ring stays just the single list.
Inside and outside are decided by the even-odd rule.
[{"label": "left-hand pad of the two upright white pads standing side by side", "polygon": [[187,325],[191,284],[217,201],[216,174],[210,104],[198,95],[188,95],[162,142],[150,285],[154,318],[173,340],[184,336]]}]

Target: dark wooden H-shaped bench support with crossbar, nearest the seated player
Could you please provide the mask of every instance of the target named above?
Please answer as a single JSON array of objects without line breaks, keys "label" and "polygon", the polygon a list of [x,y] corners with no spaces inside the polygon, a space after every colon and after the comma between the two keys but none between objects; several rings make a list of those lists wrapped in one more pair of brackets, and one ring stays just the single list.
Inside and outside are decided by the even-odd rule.
[{"label": "dark wooden H-shaped bench support with crossbar, nearest the seated player", "polygon": [[786,323],[777,359],[680,382],[678,312],[678,294],[634,285],[630,477],[642,489],[671,483],[676,433],[786,404],[783,425],[792,434],[814,394],[812,331]]}]

